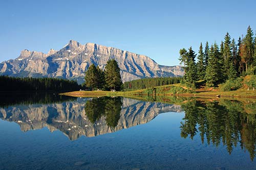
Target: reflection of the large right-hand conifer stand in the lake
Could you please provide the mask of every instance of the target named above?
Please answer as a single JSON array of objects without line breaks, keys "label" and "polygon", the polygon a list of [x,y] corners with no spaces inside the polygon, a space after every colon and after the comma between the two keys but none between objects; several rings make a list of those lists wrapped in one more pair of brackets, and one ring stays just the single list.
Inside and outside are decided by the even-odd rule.
[{"label": "reflection of the large right-hand conifer stand in the lake", "polygon": [[181,122],[181,137],[191,139],[199,131],[202,143],[205,139],[216,147],[222,142],[231,154],[233,147],[240,143],[242,149],[255,157],[256,145],[256,104],[221,100],[200,102],[190,100],[182,105],[185,117]]}]

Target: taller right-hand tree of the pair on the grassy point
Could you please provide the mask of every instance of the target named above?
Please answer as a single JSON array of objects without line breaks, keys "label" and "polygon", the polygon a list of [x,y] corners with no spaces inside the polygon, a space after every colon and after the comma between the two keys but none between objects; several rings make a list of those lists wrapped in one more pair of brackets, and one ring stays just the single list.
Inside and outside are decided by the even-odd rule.
[{"label": "taller right-hand tree of the pair on the grassy point", "polygon": [[104,74],[107,88],[110,88],[111,90],[121,90],[122,79],[120,75],[120,68],[118,67],[115,59],[106,62]]}]

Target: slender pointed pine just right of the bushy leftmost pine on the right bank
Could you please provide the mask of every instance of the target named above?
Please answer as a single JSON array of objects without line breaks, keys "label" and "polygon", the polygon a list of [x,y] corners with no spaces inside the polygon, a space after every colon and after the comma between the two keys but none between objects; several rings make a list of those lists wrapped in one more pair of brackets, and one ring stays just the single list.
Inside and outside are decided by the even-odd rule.
[{"label": "slender pointed pine just right of the bushy leftmost pine on the right bank", "polygon": [[202,42],[201,42],[200,47],[199,47],[197,60],[198,60],[198,62],[197,62],[198,79],[203,80],[204,76],[205,76],[205,59],[204,59]]}]

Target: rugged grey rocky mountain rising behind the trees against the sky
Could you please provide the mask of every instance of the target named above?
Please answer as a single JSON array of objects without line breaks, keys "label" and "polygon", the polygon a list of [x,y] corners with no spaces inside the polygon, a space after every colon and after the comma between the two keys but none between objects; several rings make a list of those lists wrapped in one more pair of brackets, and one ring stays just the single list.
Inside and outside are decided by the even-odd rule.
[{"label": "rugged grey rocky mountain rising behind the trees against the sky", "polygon": [[70,40],[61,50],[51,49],[47,54],[23,50],[18,58],[0,63],[0,75],[64,78],[82,83],[84,71],[91,64],[104,69],[109,59],[118,62],[123,82],[146,77],[178,77],[184,74],[181,66],[163,66],[144,55],[95,43],[83,45]]}]

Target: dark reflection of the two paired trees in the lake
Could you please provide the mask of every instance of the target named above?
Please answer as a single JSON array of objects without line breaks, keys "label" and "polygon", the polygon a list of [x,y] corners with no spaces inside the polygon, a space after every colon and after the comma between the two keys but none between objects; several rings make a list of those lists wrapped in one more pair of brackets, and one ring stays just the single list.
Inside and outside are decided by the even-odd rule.
[{"label": "dark reflection of the two paired trees in the lake", "polygon": [[95,124],[101,116],[105,116],[108,126],[115,128],[120,118],[121,106],[122,100],[120,97],[102,97],[93,98],[91,101],[87,101],[84,109],[91,123]]}]

